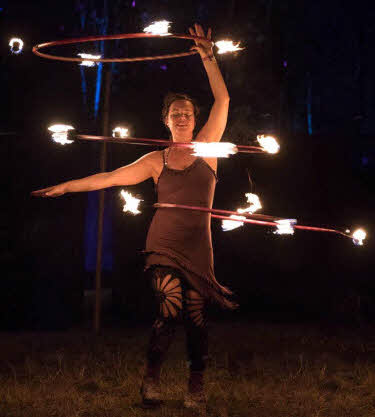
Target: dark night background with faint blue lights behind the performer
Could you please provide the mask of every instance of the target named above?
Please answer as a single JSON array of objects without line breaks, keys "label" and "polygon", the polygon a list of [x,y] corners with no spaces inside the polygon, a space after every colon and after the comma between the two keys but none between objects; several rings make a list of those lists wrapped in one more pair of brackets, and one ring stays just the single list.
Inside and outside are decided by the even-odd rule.
[{"label": "dark night background with faint blue lights behind the performer", "polygon": [[[30,192],[99,171],[97,145],[61,146],[47,132],[52,122],[61,122],[80,133],[101,133],[101,107],[97,119],[93,112],[97,69],[84,70],[85,105],[80,67],[39,58],[32,46],[142,32],[160,19],[172,21],[174,33],[200,22],[213,28],[215,41],[227,36],[242,42],[242,52],[217,58],[231,96],[224,140],[251,144],[257,134],[272,133],[281,143],[275,156],[220,160],[214,207],[244,206],[244,194],[253,191],[264,213],[340,230],[361,226],[369,235],[365,246],[356,247],[326,233],[276,236],[249,225],[223,232],[213,220],[216,275],[236,294],[240,309],[234,315],[355,325],[375,319],[373,6],[338,0],[0,0],[0,9],[1,329],[65,329],[87,322],[84,306],[94,277],[87,261],[87,252],[93,253],[87,243],[93,199],[87,193],[37,199]],[[25,42],[20,55],[9,52],[13,36]],[[189,46],[171,39],[106,42],[105,53],[157,55]],[[100,44],[88,47],[96,52]],[[80,49],[51,51],[74,56]],[[116,64],[112,70],[111,127],[122,123],[133,136],[167,138],[160,118],[168,91],[188,92],[201,105],[201,120],[207,118],[212,95],[198,56]],[[112,144],[108,170],[148,150]],[[144,199],[143,214],[123,214],[120,189],[106,192],[103,286],[112,288],[106,316],[119,325],[150,320],[151,305],[140,251],[156,196],[151,181],[127,188]],[[216,307],[211,313],[233,315]]]}]

